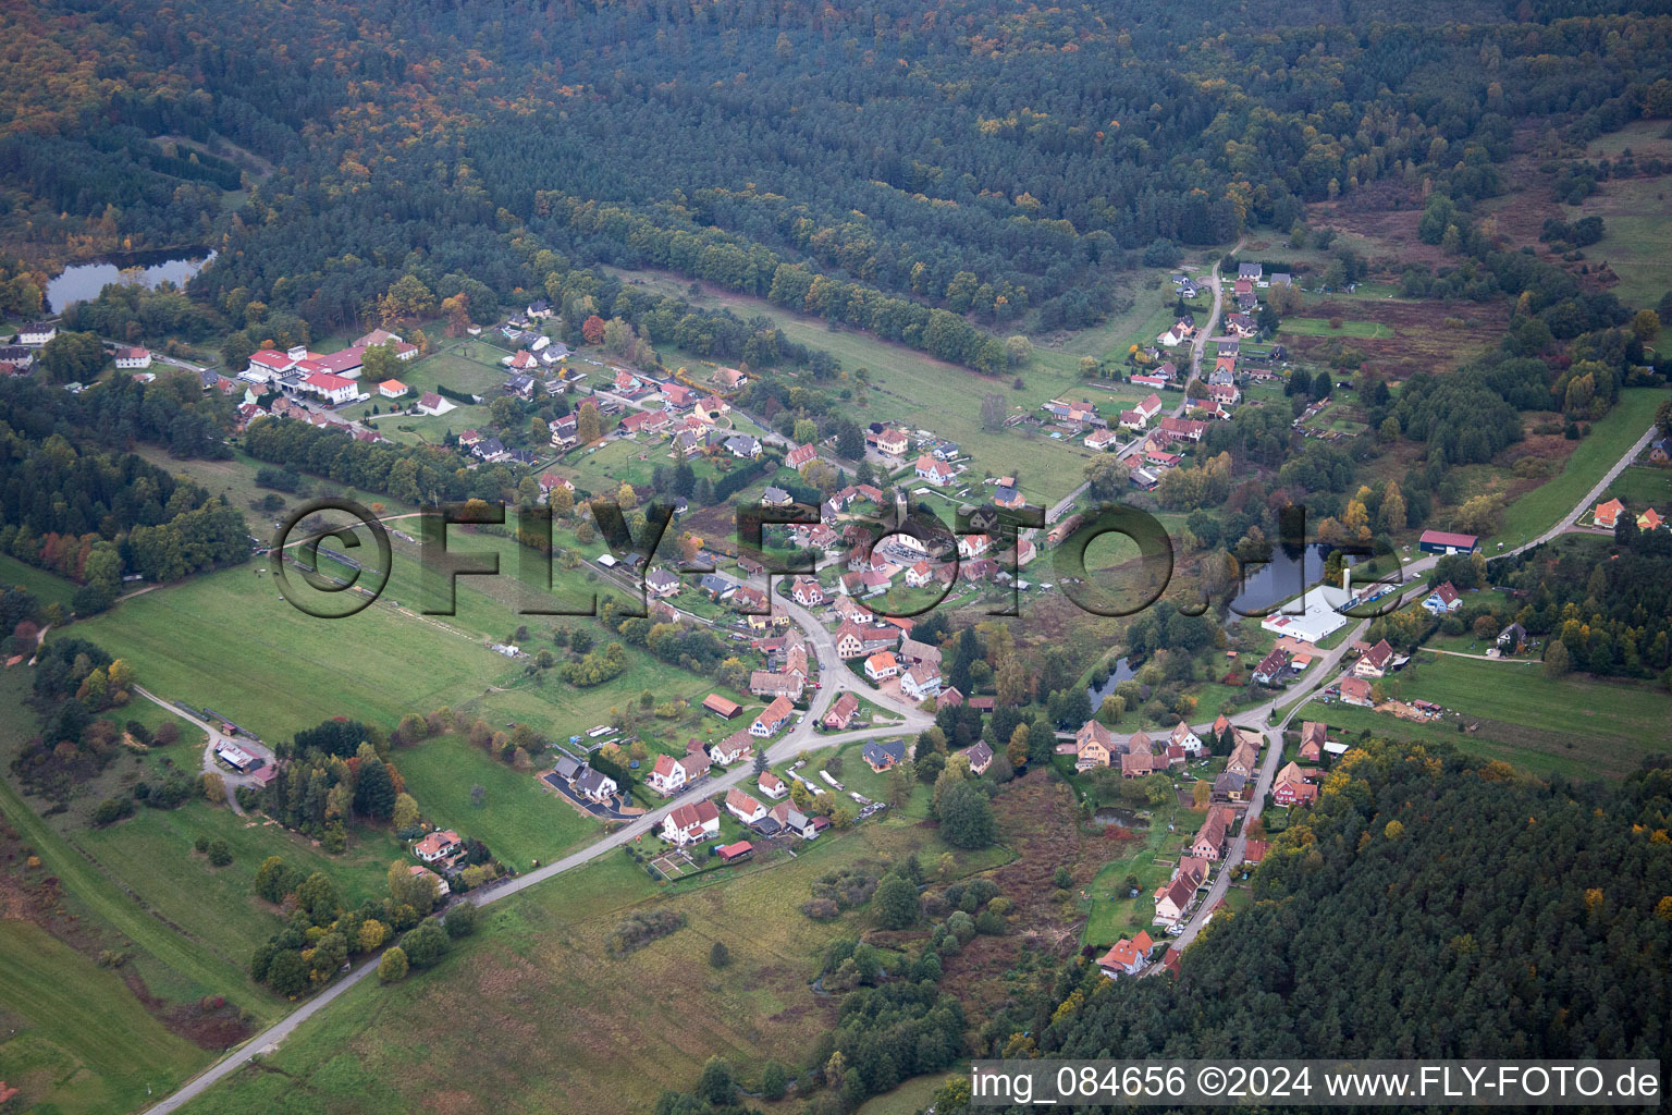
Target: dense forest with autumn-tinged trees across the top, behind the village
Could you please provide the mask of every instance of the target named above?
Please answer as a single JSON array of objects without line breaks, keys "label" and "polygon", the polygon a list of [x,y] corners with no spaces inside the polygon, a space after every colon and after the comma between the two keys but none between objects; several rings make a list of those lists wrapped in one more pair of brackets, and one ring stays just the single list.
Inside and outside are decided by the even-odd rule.
[{"label": "dense forest with autumn-tinged trees across the top, behind the village", "polygon": [[0,234],[224,227],[197,294],[314,329],[408,272],[659,266],[985,366],[990,329],[1099,319],[1157,242],[1383,179],[1468,206],[1517,119],[1665,100],[1672,18],[1617,15],[1665,3],[1430,7],[32,3]]}]

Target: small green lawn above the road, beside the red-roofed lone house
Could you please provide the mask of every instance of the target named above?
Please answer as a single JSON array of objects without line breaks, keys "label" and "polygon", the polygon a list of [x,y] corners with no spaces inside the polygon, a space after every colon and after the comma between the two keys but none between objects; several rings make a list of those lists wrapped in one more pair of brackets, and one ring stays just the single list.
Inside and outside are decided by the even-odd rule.
[{"label": "small green lawn above the road, beside the red-roofed lone house", "polygon": [[[597,821],[543,789],[533,774],[513,771],[460,736],[426,739],[396,751],[393,761],[426,816],[475,836],[518,871],[537,859],[557,859],[600,831]],[[482,807],[470,799],[472,786],[485,791]]]}]

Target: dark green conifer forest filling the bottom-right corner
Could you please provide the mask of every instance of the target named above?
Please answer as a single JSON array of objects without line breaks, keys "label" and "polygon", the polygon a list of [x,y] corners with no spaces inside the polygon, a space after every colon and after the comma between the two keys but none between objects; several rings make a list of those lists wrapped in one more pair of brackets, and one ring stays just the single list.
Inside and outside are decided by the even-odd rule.
[{"label": "dark green conifer forest filling the bottom-right corner", "polygon": [[1368,742],[1177,980],[1068,966],[993,1055],[1665,1058],[1669,824],[1665,756],[1603,787]]}]

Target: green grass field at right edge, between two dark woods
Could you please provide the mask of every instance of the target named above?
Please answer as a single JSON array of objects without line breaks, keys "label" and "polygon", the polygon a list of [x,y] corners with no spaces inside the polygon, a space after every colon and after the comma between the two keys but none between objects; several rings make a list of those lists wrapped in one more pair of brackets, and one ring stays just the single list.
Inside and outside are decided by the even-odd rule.
[{"label": "green grass field at right edge, between two dark woods", "polygon": [[[1399,695],[1445,705],[1441,720],[1415,724],[1344,704],[1311,702],[1304,719],[1343,732],[1446,742],[1535,774],[1620,777],[1644,756],[1665,751],[1672,697],[1664,690],[1587,675],[1545,677],[1538,664],[1421,655]],[[1476,724],[1460,732],[1458,724]]]}]

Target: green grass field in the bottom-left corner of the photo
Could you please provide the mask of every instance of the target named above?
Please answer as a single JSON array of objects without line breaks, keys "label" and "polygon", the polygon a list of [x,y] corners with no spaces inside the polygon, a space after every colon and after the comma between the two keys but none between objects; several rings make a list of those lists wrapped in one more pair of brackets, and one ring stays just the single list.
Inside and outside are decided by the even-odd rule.
[{"label": "green grass field in the bottom-left corner of the photo", "polygon": [[209,1060],[147,1013],[114,970],[30,921],[0,921],[0,1080],[23,1090],[17,1110],[119,1115]]}]

